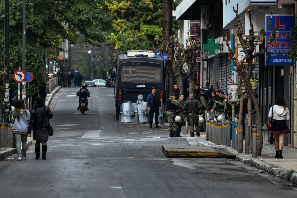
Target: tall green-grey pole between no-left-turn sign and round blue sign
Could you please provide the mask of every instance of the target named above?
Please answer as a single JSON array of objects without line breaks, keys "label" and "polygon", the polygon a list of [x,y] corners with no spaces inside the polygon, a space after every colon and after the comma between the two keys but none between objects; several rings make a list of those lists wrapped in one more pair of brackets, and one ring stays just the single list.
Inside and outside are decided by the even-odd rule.
[{"label": "tall green-grey pole between no-left-turn sign and round blue sign", "polygon": [[[23,72],[26,74],[26,0],[23,0]],[[26,79],[26,76],[25,76]],[[26,102],[26,107],[28,107],[26,100],[26,80],[23,81],[23,91],[22,91],[22,99]]]}]

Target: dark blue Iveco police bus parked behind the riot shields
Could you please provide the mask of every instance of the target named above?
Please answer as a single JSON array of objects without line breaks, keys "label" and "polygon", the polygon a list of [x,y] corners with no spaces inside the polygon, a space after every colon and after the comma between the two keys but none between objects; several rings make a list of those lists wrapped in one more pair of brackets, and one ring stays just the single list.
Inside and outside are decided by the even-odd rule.
[{"label": "dark blue Iveco police bus parked behind the riot shields", "polygon": [[164,61],[152,51],[128,50],[126,54],[120,54],[116,70],[111,74],[115,84],[116,119],[119,119],[121,103],[146,102],[152,87],[164,102],[165,74]]}]

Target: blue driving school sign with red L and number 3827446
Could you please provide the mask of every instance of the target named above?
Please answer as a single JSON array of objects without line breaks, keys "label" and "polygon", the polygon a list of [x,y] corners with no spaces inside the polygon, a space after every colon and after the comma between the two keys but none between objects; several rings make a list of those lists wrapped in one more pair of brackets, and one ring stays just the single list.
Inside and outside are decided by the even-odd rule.
[{"label": "blue driving school sign with red L and number 3827446", "polygon": [[[269,27],[271,15],[266,15],[266,41],[272,38]],[[276,37],[273,42],[269,43],[266,51],[266,65],[292,66],[293,58],[288,58],[287,53],[294,42],[286,39],[291,36],[291,28],[294,26],[293,15],[272,15],[271,26],[275,28]]]}]

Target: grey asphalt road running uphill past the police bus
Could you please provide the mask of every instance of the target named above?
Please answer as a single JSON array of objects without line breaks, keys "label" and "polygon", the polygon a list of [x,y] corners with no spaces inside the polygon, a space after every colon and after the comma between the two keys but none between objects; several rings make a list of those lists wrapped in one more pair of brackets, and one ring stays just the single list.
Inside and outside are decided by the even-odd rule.
[{"label": "grey asphalt road running uphill past the police bus", "polygon": [[46,160],[35,160],[31,145],[26,160],[1,161],[0,197],[296,196],[289,182],[235,160],[167,158],[163,144],[191,138],[168,138],[164,124],[119,123],[113,88],[89,88],[90,110],[82,115],[76,91],[61,88],[50,102]]}]

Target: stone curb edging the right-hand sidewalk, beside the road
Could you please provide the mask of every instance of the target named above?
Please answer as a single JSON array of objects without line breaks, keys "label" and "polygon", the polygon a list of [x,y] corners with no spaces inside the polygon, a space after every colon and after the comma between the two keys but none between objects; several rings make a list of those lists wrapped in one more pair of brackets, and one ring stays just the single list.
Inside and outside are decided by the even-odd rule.
[{"label": "stone curb edging the right-hand sidewalk, beside the road", "polygon": [[[208,146],[208,147],[219,147],[216,145],[211,145],[208,144],[207,142],[198,142],[197,146]],[[225,147],[224,147],[225,148]],[[228,151],[230,151],[228,148],[226,148]],[[238,155],[238,153],[234,153],[232,151],[230,151],[231,153],[233,153],[234,155],[236,155],[236,160],[237,161],[241,161],[244,164],[248,164],[250,166],[256,167],[257,169],[260,170],[264,170],[265,172],[274,175],[276,177],[282,178],[284,180],[286,180],[286,174],[287,174],[287,170],[276,166],[274,164],[269,164],[268,162],[262,161],[260,159],[257,158],[247,158],[243,155]],[[297,184],[297,173],[293,173],[290,177],[290,182],[292,182],[293,184]]]}]

